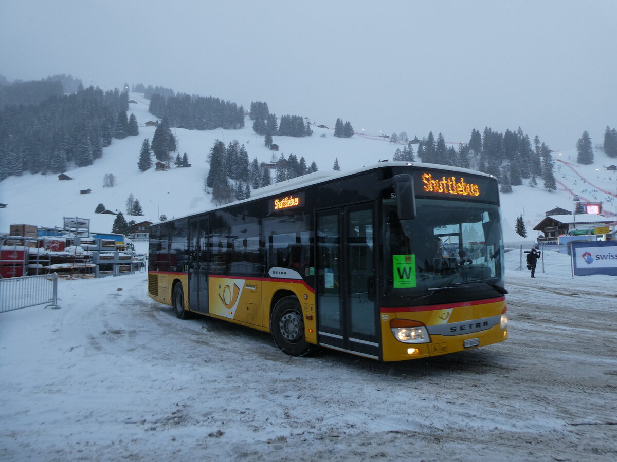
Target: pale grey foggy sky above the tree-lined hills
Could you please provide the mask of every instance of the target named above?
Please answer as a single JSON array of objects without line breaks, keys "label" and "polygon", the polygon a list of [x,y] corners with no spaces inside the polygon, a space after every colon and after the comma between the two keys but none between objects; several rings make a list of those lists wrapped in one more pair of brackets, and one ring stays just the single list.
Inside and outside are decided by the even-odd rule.
[{"label": "pale grey foggy sky above the tree-lined hills", "polygon": [[617,1],[0,1],[0,75],[143,83],[355,131],[617,126]]}]

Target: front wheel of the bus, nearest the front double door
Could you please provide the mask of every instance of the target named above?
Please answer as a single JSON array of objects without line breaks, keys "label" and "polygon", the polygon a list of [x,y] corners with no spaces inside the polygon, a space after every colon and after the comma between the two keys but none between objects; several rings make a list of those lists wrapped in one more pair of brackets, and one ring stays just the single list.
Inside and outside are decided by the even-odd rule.
[{"label": "front wheel of the bus, nearest the front double door", "polygon": [[290,356],[307,356],[314,346],[304,338],[304,320],[298,299],[289,295],[281,298],[270,316],[272,338],[281,351]]}]

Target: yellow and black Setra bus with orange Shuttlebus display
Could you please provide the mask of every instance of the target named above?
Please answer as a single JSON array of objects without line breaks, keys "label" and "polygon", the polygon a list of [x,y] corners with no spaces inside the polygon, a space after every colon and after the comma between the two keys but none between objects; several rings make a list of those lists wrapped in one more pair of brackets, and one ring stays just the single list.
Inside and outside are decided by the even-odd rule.
[{"label": "yellow and black Setra bus with orange Shuttlebus display", "polygon": [[494,177],[386,161],[151,225],[148,292],[289,355],[416,359],[507,338],[503,252]]}]

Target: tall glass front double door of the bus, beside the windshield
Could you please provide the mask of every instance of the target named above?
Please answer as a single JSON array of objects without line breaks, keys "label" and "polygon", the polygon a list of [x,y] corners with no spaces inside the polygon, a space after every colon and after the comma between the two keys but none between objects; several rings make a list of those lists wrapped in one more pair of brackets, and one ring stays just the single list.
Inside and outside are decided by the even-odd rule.
[{"label": "tall glass front double door of the bus, beside the windshield", "polygon": [[317,213],[318,341],[379,359],[372,205]]}]

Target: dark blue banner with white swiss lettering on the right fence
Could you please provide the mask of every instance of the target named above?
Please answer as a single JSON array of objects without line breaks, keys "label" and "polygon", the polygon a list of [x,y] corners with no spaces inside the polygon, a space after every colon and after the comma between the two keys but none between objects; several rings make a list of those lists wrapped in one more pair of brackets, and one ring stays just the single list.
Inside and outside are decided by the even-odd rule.
[{"label": "dark blue banner with white swiss lettering on the right fence", "polygon": [[572,244],[574,274],[617,276],[617,241],[575,242]]}]

